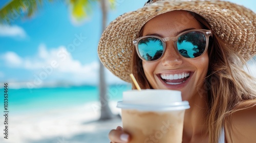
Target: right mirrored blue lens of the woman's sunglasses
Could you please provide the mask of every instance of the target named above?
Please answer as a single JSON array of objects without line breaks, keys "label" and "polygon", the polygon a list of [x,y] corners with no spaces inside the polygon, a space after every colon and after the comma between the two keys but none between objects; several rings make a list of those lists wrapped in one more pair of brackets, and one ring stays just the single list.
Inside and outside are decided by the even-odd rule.
[{"label": "right mirrored blue lens of the woman's sunglasses", "polygon": [[201,32],[189,32],[181,35],[177,41],[177,49],[183,57],[196,58],[204,53],[206,37]]}]

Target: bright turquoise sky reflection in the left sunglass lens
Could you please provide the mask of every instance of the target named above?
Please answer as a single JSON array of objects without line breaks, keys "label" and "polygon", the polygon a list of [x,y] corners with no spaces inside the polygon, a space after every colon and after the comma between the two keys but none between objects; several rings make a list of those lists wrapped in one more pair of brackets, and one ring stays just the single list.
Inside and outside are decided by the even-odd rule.
[{"label": "bright turquoise sky reflection in the left sunglass lens", "polygon": [[141,57],[144,56],[144,58],[146,58],[146,54],[149,54],[151,57],[154,57],[158,50],[163,50],[163,47],[160,40],[149,40],[148,42],[146,42],[146,44],[139,42],[138,49]]}]

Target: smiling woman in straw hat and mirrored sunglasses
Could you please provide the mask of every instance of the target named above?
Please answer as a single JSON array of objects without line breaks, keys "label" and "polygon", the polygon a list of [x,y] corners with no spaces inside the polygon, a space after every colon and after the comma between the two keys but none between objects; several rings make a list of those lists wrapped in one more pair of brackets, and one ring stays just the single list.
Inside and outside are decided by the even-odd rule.
[{"label": "smiling woman in straw hat and mirrored sunglasses", "polygon": [[[183,142],[254,142],[256,80],[243,66],[256,54],[255,33],[256,14],[236,4],[148,1],[110,23],[98,53],[122,80],[133,73],[142,89],[182,92]],[[132,136],[117,127],[109,137]]]}]

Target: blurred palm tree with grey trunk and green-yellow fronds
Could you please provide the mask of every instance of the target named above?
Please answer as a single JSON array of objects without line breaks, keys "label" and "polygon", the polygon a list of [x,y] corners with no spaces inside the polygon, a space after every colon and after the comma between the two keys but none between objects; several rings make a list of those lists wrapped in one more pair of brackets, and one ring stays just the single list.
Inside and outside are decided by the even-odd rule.
[{"label": "blurred palm tree with grey trunk and green-yellow fronds", "polygon": [[[55,0],[58,1],[58,0]],[[64,1],[64,0],[62,0]],[[71,6],[72,15],[81,20],[87,17],[90,12],[90,6],[92,3],[100,1],[102,10],[102,32],[106,27],[106,19],[108,13],[107,0],[68,0],[68,5]],[[110,6],[113,8],[115,0],[108,0]],[[21,16],[31,17],[35,14],[39,7],[42,7],[46,1],[42,0],[13,0],[0,10],[0,23],[10,24],[14,20]],[[48,2],[54,2],[54,0],[48,0]],[[99,69],[99,89],[100,89],[100,103],[101,103],[101,116],[99,120],[108,120],[113,117],[113,113],[110,110],[108,98],[106,97],[106,82],[104,76],[104,66],[100,63]]]}]

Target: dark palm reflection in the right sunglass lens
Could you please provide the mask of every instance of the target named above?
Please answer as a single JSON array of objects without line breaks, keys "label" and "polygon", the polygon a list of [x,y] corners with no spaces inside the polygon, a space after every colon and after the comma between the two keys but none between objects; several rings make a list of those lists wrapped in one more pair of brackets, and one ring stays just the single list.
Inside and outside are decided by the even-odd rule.
[{"label": "dark palm reflection in the right sunglass lens", "polygon": [[192,49],[194,51],[193,56],[198,57],[203,54],[205,50],[206,38],[201,32],[189,32],[179,37],[178,43],[181,44],[183,41],[190,42],[194,45]]}]

